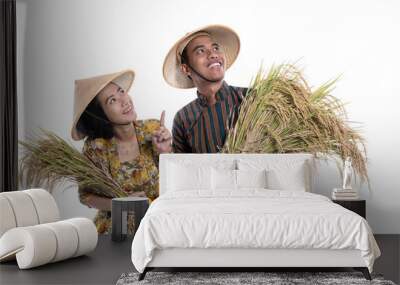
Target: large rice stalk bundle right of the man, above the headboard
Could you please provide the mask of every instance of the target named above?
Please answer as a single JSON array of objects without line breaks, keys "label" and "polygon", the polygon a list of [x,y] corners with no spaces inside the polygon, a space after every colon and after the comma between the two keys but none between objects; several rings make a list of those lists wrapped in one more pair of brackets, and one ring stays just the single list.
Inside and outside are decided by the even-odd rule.
[{"label": "large rice stalk bundle right of the man, above the headboard", "polygon": [[364,138],[350,126],[343,103],[331,95],[337,79],[311,90],[296,66],[261,68],[228,131],[225,153],[312,153],[350,157],[356,174],[368,181]]}]

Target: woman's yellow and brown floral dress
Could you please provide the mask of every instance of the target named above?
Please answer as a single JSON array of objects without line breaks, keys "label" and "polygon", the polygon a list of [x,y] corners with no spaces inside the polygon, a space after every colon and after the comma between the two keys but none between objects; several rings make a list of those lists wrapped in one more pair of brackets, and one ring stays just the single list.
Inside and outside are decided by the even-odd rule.
[{"label": "woman's yellow and brown floral dress", "polygon": [[[155,119],[136,121],[136,137],[140,154],[132,161],[120,162],[115,138],[86,140],[83,154],[91,156],[100,167],[108,169],[111,176],[122,185],[127,195],[144,192],[150,199],[158,197],[158,153],[152,144],[152,133],[160,127]],[[93,157],[95,156],[95,157]],[[79,200],[87,206],[90,189],[79,187]],[[111,213],[99,210],[94,218],[99,233],[111,232]],[[128,233],[132,234],[134,217],[128,214]]]}]

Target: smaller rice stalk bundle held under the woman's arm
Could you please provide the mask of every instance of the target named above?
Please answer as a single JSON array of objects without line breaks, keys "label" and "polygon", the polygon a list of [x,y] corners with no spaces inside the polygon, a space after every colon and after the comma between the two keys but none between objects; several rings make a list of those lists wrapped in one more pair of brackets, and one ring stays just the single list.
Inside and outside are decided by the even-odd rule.
[{"label": "smaller rice stalk bundle held under the woman's arm", "polygon": [[73,182],[105,197],[125,197],[121,185],[101,164],[85,156],[56,134],[42,130],[36,139],[22,145],[19,179],[24,187],[45,187],[50,192],[58,183]]}]

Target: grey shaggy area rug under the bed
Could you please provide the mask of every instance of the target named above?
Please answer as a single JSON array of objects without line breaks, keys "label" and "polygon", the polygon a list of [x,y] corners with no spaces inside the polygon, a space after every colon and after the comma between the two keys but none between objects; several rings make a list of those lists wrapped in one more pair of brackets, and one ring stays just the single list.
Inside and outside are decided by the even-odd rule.
[{"label": "grey shaggy area rug under the bed", "polygon": [[382,275],[372,275],[368,281],[360,272],[148,272],[142,281],[138,281],[139,273],[122,274],[116,285],[145,284],[267,284],[267,285],[297,285],[297,284],[379,284],[396,285],[384,280]]}]

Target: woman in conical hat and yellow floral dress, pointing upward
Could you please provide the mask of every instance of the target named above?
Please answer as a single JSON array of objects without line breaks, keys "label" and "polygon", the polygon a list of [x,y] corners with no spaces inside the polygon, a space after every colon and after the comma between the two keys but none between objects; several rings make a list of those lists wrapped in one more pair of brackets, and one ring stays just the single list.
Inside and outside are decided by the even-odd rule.
[{"label": "woman in conical hat and yellow floral dress, pointing upward", "polygon": [[[129,196],[158,196],[158,155],[171,152],[171,134],[160,121],[137,120],[128,91],[132,70],[75,81],[74,140],[86,138],[83,153],[106,169]],[[81,203],[99,210],[99,233],[111,227],[111,199],[79,188]],[[133,217],[128,218],[133,228]]]}]

